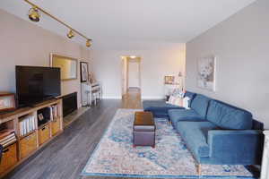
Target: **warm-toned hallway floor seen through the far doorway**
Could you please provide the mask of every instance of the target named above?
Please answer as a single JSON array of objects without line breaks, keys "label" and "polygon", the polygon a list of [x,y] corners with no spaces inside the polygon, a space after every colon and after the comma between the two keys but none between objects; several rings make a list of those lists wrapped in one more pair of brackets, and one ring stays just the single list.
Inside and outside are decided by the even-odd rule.
[{"label": "warm-toned hallway floor seen through the far doorway", "polygon": [[123,108],[143,108],[141,101],[141,90],[138,88],[129,88],[125,95],[122,96]]}]

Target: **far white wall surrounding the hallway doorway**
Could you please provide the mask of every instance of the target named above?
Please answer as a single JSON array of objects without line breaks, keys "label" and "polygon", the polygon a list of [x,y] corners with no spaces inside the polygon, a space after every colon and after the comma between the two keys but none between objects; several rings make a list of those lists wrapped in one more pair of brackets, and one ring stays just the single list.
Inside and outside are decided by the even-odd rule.
[{"label": "far white wall surrounding the hallway doorway", "polygon": [[91,49],[92,70],[103,84],[104,98],[121,98],[122,55],[141,57],[142,98],[163,98],[164,76],[177,75],[184,69],[185,45],[181,43],[109,43],[94,44]]}]

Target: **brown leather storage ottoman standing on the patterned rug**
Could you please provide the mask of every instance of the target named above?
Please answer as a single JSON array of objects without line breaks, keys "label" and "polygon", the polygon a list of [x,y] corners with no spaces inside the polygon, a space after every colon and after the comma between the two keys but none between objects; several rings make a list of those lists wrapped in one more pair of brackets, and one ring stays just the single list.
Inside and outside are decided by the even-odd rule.
[{"label": "brown leather storage ottoman standing on the patterned rug", "polygon": [[134,147],[155,147],[155,124],[151,112],[135,112],[134,114]]}]

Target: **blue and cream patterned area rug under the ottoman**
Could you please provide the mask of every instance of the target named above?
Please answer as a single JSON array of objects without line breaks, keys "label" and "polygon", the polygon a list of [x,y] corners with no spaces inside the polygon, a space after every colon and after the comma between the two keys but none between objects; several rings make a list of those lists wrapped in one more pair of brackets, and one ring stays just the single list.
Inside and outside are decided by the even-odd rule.
[{"label": "blue and cream patterned area rug under the ottoman", "polygon": [[133,109],[118,109],[82,175],[147,178],[254,178],[244,166],[202,165],[165,119],[155,119],[156,147],[133,148]]}]

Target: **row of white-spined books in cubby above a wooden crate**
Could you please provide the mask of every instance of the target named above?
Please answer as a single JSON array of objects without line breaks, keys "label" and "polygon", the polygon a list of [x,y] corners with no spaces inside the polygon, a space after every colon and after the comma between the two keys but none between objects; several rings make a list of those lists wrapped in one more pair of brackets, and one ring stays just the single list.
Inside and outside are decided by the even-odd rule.
[{"label": "row of white-spined books in cubby above a wooden crate", "polygon": [[20,120],[20,135],[26,135],[37,129],[34,115],[26,115]]}]

